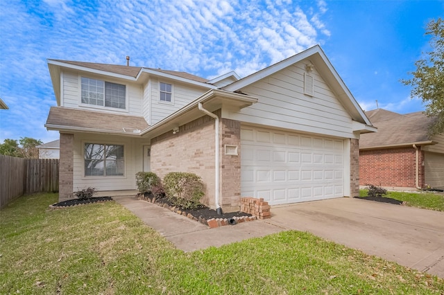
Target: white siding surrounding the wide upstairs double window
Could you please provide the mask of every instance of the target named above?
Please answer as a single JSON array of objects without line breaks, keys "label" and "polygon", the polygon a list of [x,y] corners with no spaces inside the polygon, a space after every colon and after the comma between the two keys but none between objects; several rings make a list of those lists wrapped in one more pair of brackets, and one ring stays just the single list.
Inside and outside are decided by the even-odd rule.
[{"label": "white siding surrounding the wide upstairs double window", "polygon": [[[62,96],[60,105],[62,107],[72,107],[75,109],[91,109],[91,110],[100,110],[105,113],[113,113],[113,114],[130,114],[133,116],[142,116],[142,96],[143,96],[143,88],[142,85],[136,84],[133,82],[128,82],[127,80],[119,80],[119,79],[108,79],[103,78],[96,75],[79,75],[74,72],[63,72],[63,81],[62,81]],[[118,84],[126,85],[126,94],[127,94],[127,107],[128,109],[112,109],[112,108],[103,108],[97,107],[94,105],[80,105],[80,77],[94,78],[99,80],[105,80],[107,82],[113,82]]]}]

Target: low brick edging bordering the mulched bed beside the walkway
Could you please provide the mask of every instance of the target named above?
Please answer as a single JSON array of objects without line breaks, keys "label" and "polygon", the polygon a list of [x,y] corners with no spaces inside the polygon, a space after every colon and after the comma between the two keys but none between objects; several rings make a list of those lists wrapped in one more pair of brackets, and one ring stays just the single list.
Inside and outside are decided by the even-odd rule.
[{"label": "low brick edging bordering the mulched bed beside the walkway", "polygon": [[[190,220],[196,220],[196,222],[200,222],[201,224],[205,224],[206,226],[210,226],[211,229],[214,229],[219,226],[233,225],[233,224],[237,224],[237,223],[241,223],[241,222],[249,222],[249,221],[257,220],[257,216],[255,214],[248,213],[245,211],[243,211],[243,212],[251,214],[253,216],[242,216],[242,217],[234,216],[234,217],[232,217],[232,223],[230,223],[230,220],[228,220],[228,218],[212,218],[210,220],[205,220],[205,218],[196,217],[196,216],[191,215],[191,213],[186,213],[185,211],[180,210],[180,208],[178,208],[176,206],[169,206],[169,204],[157,202],[157,199],[155,199],[155,198],[151,199],[150,197],[145,197],[142,194],[137,194],[136,197],[137,197],[137,199],[144,199],[146,202],[150,202],[150,203],[156,204],[157,206],[167,208],[173,212],[176,212],[180,215],[188,217]],[[250,198],[250,199],[253,199],[253,198]],[[264,201],[264,199],[262,199],[262,201]],[[269,211],[269,209],[268,209],[268,211]]]}]

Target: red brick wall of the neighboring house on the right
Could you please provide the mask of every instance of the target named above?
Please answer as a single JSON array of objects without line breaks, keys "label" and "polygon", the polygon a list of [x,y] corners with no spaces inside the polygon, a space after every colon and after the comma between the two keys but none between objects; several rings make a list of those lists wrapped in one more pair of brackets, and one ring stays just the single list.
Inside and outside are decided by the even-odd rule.
[{"label": "red brick wall of the neighboring house on the right", "polygon": [[[424,152],[419,152],[419,186],[424,186]],[[359,184],[376,186],[415,188],[416,150],[400,147],[359,152]]]}]

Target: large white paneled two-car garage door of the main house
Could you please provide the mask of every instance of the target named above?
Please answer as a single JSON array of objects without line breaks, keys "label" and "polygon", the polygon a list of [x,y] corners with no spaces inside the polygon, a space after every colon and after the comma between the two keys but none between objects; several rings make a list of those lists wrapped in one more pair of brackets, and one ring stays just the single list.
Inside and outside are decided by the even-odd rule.
[{"label": "large white paneled two-car garage door of the main house", "polygon": [[241,195],[272,205],[343,197],[343,140],[242,127]]}]

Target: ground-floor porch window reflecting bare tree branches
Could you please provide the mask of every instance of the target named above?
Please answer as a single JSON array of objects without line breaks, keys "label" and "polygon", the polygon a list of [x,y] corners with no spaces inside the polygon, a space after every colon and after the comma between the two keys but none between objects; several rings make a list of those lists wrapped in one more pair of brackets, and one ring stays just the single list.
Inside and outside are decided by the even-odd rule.
[{"label": "ground-floor porch window reflecting bare tree branches", "polygon": [[123,145],[85,143],[85,176],[121,176],[124,167]]}]

